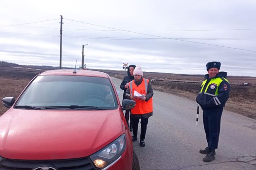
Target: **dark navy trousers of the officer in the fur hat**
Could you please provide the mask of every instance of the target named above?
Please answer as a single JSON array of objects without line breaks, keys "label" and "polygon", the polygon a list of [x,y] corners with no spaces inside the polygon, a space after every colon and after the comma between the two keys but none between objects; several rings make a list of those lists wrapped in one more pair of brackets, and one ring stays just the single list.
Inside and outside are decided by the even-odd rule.
[{"label": "dark navy trousers of the officer in the fur hat", "polygon": [[222,111],[223,107],[203,109],[203,126],[210,149],[218,148]]}]

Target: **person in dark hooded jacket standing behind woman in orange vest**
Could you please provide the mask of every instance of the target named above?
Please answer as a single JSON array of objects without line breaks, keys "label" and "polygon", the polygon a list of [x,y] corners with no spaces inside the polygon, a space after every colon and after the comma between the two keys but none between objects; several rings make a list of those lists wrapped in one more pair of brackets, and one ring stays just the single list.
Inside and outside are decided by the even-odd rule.
[{"label": "person in dark hooded jacket standing behind woman in orange vest", "polygon": [[[132,81],[133,80],[133,71],[134,71],[134,68],[136,66],[135,65],[129,65],[128,66],[128,69],[127,69],[127,76],[124,77],[121,85],[120,85],[120,89],[124,90],[124,94],[123,94],[123,100],[126,99],[125,98],[125,93],[126,93],[126,90],[128,89],[128,85],[127,83]],[[130,110],[125,110],[125,119],[126,119],[126,122],[130,128],[130,131],[132,131],[132,122],[131,122],[131,117],[130,117],[130,125],[129,125],[129,117],[130,117]]]}]

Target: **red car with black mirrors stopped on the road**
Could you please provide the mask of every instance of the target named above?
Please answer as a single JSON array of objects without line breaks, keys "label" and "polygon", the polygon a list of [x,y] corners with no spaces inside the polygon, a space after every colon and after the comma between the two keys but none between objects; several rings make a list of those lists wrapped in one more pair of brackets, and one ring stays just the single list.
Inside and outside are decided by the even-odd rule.
[{"label": "red car with black mirrors stopped on the road", "polygon": [[132,136],[108,74],[37,75],[0,116],[0,170],[139,170]]}]

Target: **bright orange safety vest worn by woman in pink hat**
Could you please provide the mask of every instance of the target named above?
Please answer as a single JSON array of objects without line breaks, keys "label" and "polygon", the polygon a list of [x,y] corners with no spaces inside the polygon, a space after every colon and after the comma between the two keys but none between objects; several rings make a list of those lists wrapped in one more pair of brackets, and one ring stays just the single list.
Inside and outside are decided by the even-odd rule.
[{"label": "bright orange safety vest worn by woman in pink hat", "polygon": [[[130,94],[134,94],[136,90],[140,94],[147,94],[147,85],[149,80],[143,78],[140,85],[136,85],[134,80],[129,82],[129,90]],[[153,97],[151,97],[147,102],[135,99],[136,105],[133,109],[131,109],[132,114],[145,114],[153,111]]]}]

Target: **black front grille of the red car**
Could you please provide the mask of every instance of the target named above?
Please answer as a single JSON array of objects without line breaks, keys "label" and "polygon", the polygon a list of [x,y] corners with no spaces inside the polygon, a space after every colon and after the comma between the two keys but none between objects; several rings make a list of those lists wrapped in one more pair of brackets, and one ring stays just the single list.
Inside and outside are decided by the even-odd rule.
[{"label": "black front grille of the red car", "polygon": [[3,158],[0,162],[0,170],[32,170],[38,166],[54,166],[58,170],[95,170],[87,157],[65,160],[14,160]]}]

